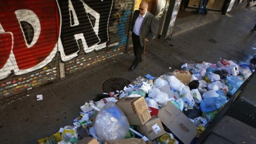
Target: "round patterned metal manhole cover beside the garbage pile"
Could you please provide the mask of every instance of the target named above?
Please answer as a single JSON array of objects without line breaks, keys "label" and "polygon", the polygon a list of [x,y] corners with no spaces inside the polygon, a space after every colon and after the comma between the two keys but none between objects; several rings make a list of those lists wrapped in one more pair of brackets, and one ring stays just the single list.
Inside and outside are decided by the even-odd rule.
[{"label": "round patterned metal manhole cover beside the garbage pile", "polygon": [[116,90],[123,90],[125,86],[129,85],[131,82],[127,79],[120,77],[114,77],[107,79],[102,84],[102,91],[104,93],[115,92]]}]

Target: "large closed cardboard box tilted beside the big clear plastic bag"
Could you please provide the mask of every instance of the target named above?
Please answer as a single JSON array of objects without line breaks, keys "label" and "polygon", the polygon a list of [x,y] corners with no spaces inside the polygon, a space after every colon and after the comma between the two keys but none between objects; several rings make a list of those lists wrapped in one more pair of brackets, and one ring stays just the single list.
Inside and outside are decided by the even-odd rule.
[{"label": "large closed cardboard box tilted beside the big clear plastic bag", "polygon": [[124,97],[116,105],[125,113],[130,125],[144,125],[151,118],[144,97]]}]

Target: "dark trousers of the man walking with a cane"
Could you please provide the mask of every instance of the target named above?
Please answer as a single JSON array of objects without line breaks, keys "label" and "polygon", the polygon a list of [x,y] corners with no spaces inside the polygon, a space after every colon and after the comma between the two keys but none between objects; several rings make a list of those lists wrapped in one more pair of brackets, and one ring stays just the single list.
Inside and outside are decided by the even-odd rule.
[{"label": "dark trousers of the man walking with a cane", "polygon": [[140,37],[136,35],[135,33],[131,34],[132,38],[132,44],[133,44],[133,50],[134,50],[134,55],[135,55],[135,60],[133,62],[133,66],[137,66],[138,63],[142,60],[141,55],[143,53],[143,48],[140,43]]}]

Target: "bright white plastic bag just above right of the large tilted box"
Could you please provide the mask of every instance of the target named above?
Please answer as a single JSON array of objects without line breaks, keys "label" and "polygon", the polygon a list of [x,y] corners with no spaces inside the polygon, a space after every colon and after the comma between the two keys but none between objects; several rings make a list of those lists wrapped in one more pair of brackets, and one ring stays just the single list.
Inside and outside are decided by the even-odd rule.
[{"label": "bright white plastic bag just above right of the large tilted box", "polygon": [[165,106],[169,100],[168,94],[162,92],[158,88],[152,88],[149,90],[148,97],[154,99],[159,106]]}]

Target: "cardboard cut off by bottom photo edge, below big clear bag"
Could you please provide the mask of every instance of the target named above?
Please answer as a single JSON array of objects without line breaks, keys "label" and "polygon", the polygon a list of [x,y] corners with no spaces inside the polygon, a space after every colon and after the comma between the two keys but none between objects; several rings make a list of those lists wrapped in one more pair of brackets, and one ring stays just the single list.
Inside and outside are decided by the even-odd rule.
[{"label": "cardboard cut off by bottom photo edge, below big clear bag", "polygon": [[144,141],[138,138],[125,138],[121,140],[105,141],[104,144],[154,144],[152,141]]}]

